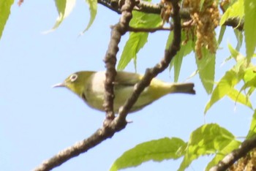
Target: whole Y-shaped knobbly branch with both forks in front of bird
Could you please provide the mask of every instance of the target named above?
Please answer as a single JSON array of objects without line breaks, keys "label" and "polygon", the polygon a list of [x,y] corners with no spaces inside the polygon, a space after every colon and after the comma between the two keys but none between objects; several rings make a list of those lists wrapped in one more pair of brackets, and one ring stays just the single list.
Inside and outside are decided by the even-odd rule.
[{"label": "whole Y-shaped knobbly branch with both forks in front of bird", "polygon": [[[129,23],[129,20],[132,18],[132,8],[135,5],[135,1],[133,0],[125,0],[124,6],[121,8],[122,15],[121,19],[116,26],[113,27],[112,34],[111,34],[111,40],[110,45],[108,48],[108,52],[106,53],[106,67],[109,69],[109,75],[110,80],[108,80],[108,83],[106,83],[107,88],[110,88],[113,86],[111,84],[111,79],[113,79],[113,72],[116,72],[116,70],[113,68],[115,62],[116,62],[116,53],[118,51],[118,41],[120,41],[120,37],[122,34],[125,33],[126,29],[128,28],[127,23]],[[53,156],[51,159],[48,159],[47,161],[44,161],[42,164],[39,165],[35,170],[36,171],[46,171],[46,170],[52,170],[54,167],[58,167],[59,165],[63,164],[65,161],[72,159],[72,157],[80,155],[80,153],[84,153],[88,151],[89,149],[93,148],[94,146],[98,145],[100,142],[110,138],[115,134],[116,132],[120,131],[121,129],[124,129],[124,127],[127,124],[126,116],[127,113],[129,113],[129,109],[132,107],[132,105],[136,102],[138,97],[140,96],[140,93],[143,91],[144,88],[146,88],[153,77],[157,76],[159,72],[162,72],[164,69],[167,68],[168,64],[170,64],[170,61],[172,58],[176,55],[177,51],[180,48],[181,44],[181,18],[178,15],[178,0],[173,1],[173,42],[170,45],[170,47],[165,50],[165,56],[162,59],[162,61],[159,62],[154,68],[147,69],[146,75],[143,77],[143,79],[135,86],[135,90],[132,94],[132,96],[129,97],[127,102],[124,104],[123,107],[119,110],[119,115],[116,117],[113,121],[108,121],[108,124],[104,124],[102,129],[98,129],[97,132],[91,135],[91,137],[87,138],[86,140],[80,141],[76,143],[75,145],[64,149],[63,151],[60,151],[56,156]],[[112,77],[112,78],[111,78]],[[113,82],[112,82],[113,83]],[[109,86],[109,87],[108,87]],[[111,94],[110,95],[110,99]],[[109,104],[110,105],[110,104]],[[108,117],[107,119],[108,120]]]}]

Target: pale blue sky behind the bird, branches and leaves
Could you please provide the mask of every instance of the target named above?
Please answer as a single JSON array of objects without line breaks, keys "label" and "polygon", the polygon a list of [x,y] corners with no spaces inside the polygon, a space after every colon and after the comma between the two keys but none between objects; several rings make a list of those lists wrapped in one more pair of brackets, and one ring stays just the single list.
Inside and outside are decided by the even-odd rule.
[{"label": "pale blue sky behind the bird, branches and leaves", "polygon": [[[71,15],[50,34],[42,32],[55,23],[54,1],[25,1],[21,7],[14,4],[11,12],[0,40],[0,168],[32,170],[102,126],[104,113],[91,109],[67,89],[51,86],[72,72],[105,69],[102,59],[110,41],[110,26],[118,22],[119,16],[99,5],[94,24],[79,37],[89,21],[84,1],[77,1]],[[165,31],[150,34],[148,44],[138,54],[139,73],[162,58],[167,35]],[[118,57],[127,36],[121,39]],[[231,29],[217,53],[216,80],[234,64],[221,65],[229,56],[228,42],[236,46]],[[179,81],[186,80],[195,69],[194,55],[184,58]],[[125,70],[135,72],[133,64]],[[172,82],[173,72],[165,71],[158,77]],[[190,132],[203,123],[219,123],[236,136],[246,136],[252,110],[224,98],[204,117],[210,96],[198,76],[189,81],[195,83],[195,96],[173,94],[159,99],[129,115],[127,120],[133,122],[126,129],[55,170],[108,170],[118,156],[140,142],[162,137],[187,141]],[[187,170],[203,170],[210,159],[200,158]],[[127,170],[176,170],[180,162],[150,161]]]}]

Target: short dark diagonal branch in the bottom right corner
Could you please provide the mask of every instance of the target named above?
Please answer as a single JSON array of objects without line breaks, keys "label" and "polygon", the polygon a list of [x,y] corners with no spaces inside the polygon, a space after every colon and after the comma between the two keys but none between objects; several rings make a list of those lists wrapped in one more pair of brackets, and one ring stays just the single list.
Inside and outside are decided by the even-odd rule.
[{"label": "short dark diagonal branch in the bottom right corner", "polygon": [[231,153],[227,154],[219,163],[211,167],[210,171],[225,171],[228,167],[232,166],[238,159],[246,156],[246,153],[252,151],[253,148],[256,148],[256,138],[252,138],[250,140],[245,140],[240,148],[232,151]]}]

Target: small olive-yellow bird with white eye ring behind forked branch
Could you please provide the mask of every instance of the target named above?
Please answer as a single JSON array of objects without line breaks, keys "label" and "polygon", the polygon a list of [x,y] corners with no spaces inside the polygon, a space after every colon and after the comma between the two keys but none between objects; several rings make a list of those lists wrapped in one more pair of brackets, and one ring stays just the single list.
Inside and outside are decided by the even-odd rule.
[{"label": "small olive-yellow bird with white eye ring behind forked branch", "polygon": [[[135,84],[142,78],[143,75],[137,73],[117,71],[113,83],[115,96],[113,100],[114,113],[118,113],[119,107],[124,105],[124,102],[132,94]],[[102,105],[105,96],[105,71],[75,72],[69,75],[63,83],[53,85],[53,88],[56,87],[66,87],[80,96],[90,107],[105,111]],[[162,96],[176,93],[195,94],[194,83],[166,83],[153,78],[150,85],[142,91],[129,113],[141,110]]]}]

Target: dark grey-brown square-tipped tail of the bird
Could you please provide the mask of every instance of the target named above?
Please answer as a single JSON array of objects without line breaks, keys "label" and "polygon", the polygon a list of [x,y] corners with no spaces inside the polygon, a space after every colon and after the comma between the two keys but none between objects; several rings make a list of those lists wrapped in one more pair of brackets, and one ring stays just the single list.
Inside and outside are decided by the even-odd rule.
[{"label": "dark grey-brown square-tipped tail of the bird", "polygon": [[171,93],[195,94],[194,83],[174,83]]}]

